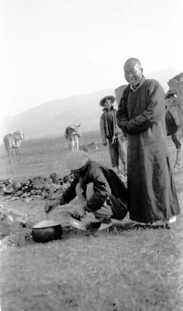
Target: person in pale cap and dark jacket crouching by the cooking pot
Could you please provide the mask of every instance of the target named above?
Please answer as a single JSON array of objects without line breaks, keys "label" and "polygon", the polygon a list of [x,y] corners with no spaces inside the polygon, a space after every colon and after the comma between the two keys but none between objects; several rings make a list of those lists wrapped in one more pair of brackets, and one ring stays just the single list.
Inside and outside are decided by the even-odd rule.
[{"label": "person in pale cap and dark jacket crouching by the cooking pot", "polygon": [[87,228],[105,230],[112,226],[112,219],[122,220],[127,210],[127,188],[110,168],[90,160],[83,151],[73,151],[67,156],[67,168],[76,178],[70,187],[53,202],[47,203],[49,212],[58,205],[64,205],[78,196],[81,205],[74,210],[75,218],[92,212],[94,221]]}]

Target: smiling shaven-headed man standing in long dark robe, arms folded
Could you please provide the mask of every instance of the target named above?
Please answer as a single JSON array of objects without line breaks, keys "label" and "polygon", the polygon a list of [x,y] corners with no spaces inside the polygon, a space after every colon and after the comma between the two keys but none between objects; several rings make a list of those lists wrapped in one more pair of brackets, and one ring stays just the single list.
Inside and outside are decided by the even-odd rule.
[{"label": "smiling shaven-headed man standing in long dark robe, arms folded", "polygon": [[117,124],[128,134],[127,178],[130,219],[171,223],[180,213],[166,146],[165,94],[156,81],[145,79],[140,61],[128,59]]}]

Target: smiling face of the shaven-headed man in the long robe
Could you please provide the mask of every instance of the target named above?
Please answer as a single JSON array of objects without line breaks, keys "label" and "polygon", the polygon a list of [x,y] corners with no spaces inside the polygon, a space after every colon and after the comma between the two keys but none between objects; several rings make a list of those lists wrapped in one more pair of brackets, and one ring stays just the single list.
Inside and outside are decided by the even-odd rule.
[{"label": "smiling face of the shaven-headed man in the long robe", "polygon": [[127,61],[124,65],[124,75],[126,81],[131,86],[136,86],[142,79],[143,69],[138,62]]}]

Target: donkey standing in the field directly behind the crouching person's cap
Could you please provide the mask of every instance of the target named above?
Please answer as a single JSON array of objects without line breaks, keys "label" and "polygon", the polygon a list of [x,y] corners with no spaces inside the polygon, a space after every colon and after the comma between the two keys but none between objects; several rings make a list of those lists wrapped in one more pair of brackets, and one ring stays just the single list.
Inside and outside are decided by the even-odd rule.
[{"label": "donkey standing in the field directly behind the crouching person's cap", "polygon": [[78,138],[81,138],[82,134],[79,129],[79,125],[68,125],[65,131],[65,137],[68,140],[69,148],[71,151],[79,150]]}]

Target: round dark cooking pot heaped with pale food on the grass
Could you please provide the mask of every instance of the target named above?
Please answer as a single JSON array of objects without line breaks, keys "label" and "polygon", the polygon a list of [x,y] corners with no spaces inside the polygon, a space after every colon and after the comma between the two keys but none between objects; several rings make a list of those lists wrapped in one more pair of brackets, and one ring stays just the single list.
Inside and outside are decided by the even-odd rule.
[{"label": "round dark cooking pot heaped with pale food on the grass", "polygon": [[62,238],[62,226],[53,220],[43,220],[33,226],[32,235],[35,242],[58,240]]}]

